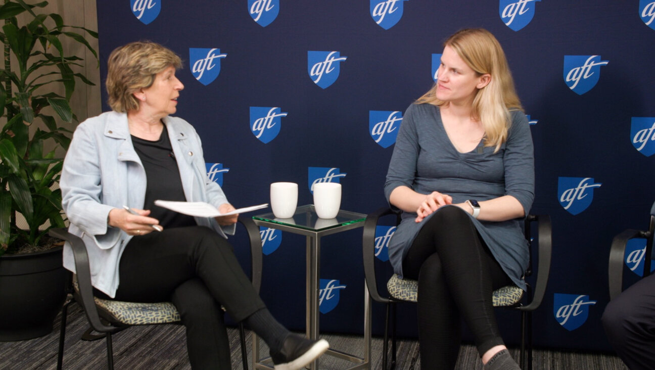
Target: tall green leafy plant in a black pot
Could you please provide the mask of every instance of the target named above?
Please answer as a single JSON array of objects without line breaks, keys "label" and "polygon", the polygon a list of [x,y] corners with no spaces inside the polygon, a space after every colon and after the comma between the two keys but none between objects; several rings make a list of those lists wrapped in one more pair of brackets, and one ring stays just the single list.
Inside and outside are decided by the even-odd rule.
[{"label": "tall green leafy plant in a black pot", "polygon": [[[65,26],[59,14],[35,12],[47,5],[47,1],[5,0],[0,7],[0,19],[5,20],[0,33],[5,46],[0,69],[0,341],[50,333],[65,298],[62,247],[20,250],[42,244],[48,229],[64,227],[57,186],[63,158],[56,152],[67,149],[70,131],[58,119],[76,119],[69,105],[75,83],[92,83],[75,73],[83,59],[66,55],[62,41],[81,43],[97,60],[96,51],[75,31],[98,35]],[[64,94],[58,94],[57,88],[63,88]],[[26,228],[16,224],[17,213],[24,217]],[[51,301],[52,307],[41,307],[45,301]]]}]

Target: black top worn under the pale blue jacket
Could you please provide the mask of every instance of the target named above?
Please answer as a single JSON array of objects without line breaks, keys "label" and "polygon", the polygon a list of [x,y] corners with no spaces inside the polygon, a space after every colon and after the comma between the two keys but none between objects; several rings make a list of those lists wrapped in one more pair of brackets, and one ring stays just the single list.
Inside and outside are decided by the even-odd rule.
[{"label": "black top worn under the pale blue jacket", "polygon": [[158,219],[159,224],[166,228],[196,225],[195,219],[189,215],[155,206],[157,199],[181,202],[187,200],[166,126],[159,140],[150,141],[132,136],[132,145],[145,169],[147,185],[143,209],[151,210],[149,217]]}]

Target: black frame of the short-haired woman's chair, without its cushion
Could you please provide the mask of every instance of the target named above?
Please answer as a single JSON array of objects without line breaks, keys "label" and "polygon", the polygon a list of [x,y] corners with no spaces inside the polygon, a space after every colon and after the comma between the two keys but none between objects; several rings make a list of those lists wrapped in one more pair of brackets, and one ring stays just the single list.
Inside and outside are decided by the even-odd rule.
[{"label": "black frame of the short-haired woman's chair, without its cushion", "polygon": [[[262,267],[262,253],[261,253],[261,238],[259,237],[259,229],[253,223],[252,219],[249,217],[239,217],[238,221],[244,225],[248,236],[250,238],[250,250],[251,250],[251,281],[255,287],[255,291],[259,292],[261,287],[261,267]],[[91,329],[86,331],[83,335],[85,340],[96,340],[102,339],[104,337],[107,342],[107,365],[109,370],[113,369],[113,347],[111,342],[111,335],[118,333],[124,329],[127,329],[130,326],[128,324],[122,324],[120,322],[112,322],[110,318],[107,318],[102,310],[99,310],[96,304],[94,303],[93,296],[93,287],[91,285],[91,273],[88,262],[88,253],[86,252],[86,246],[84,242],[78,236],[75,236],[67,231],[67,229],[51,229],[49,231],[50,236],[55,238],[60,238],[62,240],[67,240],[71,244],[71,249],[73,250],[73,256],[75,257],[75,269],[77,274],[77,284],[79,290],[73,289],[73,280],[72,274],[70,274],[69,284],[68,284],[68,293],[69,298],[66,300],[64,306],[62,307],[62,325],[59,335],[59,352],[57,357],[57,369],[62,369],[62,363],[64,361],[64,339],[65,339],[65,330],[66,330],[66,315],[68,310],[68,305],[73,302],[79,303],[82,306],[86,318],[91,325]],[[176,324],[175,322],[163,323],[163,324]],[[179,324],[179,322],[178,322]],[[161,324],[151,324],[151,325],[161,325]],[[90,331],[94,330],[102,335],[90,335]],[[248,354],[246,352],[246,332],[242,323],[239,324],[239,335],[241,342],[241,356],[243,361],[244,369],[248,369]]]}]

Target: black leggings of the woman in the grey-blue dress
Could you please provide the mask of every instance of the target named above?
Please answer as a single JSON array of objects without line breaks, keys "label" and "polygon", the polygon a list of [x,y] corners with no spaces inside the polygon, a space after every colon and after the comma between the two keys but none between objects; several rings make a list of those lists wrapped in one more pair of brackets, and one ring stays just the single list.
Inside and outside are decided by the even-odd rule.
[{"label": "black leggings of the woman in the grey-blue dress", "polygon": [[511,280],[463,210],[443,207],[426,221],[403,261],[403,275],[419,280],[423,369],[455,368],[462,319],[480,355],[503,344],[492,294]]}]

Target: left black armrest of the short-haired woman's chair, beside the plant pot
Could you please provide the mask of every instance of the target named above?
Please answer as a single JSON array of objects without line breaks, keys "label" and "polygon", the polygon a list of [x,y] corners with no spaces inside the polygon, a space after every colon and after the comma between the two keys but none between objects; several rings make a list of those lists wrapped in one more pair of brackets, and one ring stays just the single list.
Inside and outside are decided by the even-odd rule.
[{"label": "left black armrest of the short-haired woman's chair, beside the plant pot", "polygon": [[104,325],[100,321],[98,308],[96,308],[96,303],[93,299],[93,286],[91,285],[91,271],[88,265],[88,253],[86,252],[86,246],[84,246],[82,238],[71,234],[67,229],[50,229],[48,234],[54,238],[66,240],[71,246],[73,257],[75,258],[75,274],[77,274],[77,286],[79,288],[79,299],[76,299],[76,301],[82,305],[91,327],[100,333],[113,333],[121,329],[115,326]]}]

